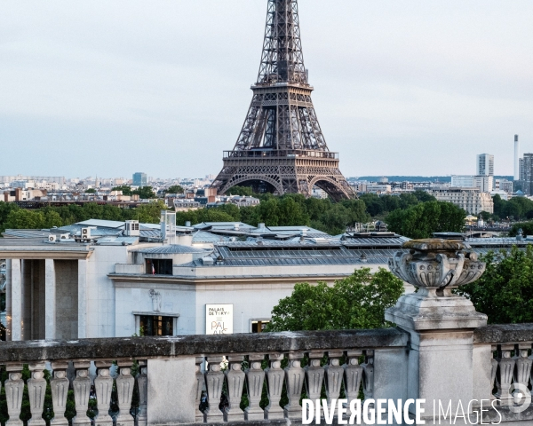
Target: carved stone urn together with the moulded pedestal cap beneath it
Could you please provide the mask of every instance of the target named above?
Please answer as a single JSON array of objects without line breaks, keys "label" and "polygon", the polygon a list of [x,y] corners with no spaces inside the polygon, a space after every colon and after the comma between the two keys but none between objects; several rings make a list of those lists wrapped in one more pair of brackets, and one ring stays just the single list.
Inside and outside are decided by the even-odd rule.
[{"label": "carved stone urn together with the moulded pedestal cap beneath it", "polygon": [[386,310],[386,320],[411,330],[476,328],[487,324],[487,316],[476,312],[472,302],[452,293],[485,272],[472,248],[458,240],[411,240],[389,260],[398,278],[418,288],[403,295]]}]

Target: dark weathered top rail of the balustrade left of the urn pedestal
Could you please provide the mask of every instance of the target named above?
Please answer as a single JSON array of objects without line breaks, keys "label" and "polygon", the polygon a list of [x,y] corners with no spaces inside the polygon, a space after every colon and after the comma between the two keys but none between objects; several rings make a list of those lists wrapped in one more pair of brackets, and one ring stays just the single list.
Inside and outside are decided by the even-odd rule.
[{"label": "dark weathered top rail of the balustrade left of the urn pedestal", "polygon": [[0,343],[0,364],[60,359],[153,359],[193,355],[362,350],[407,346],[397,328],[299,331],[239,335],[115,337]]}]

